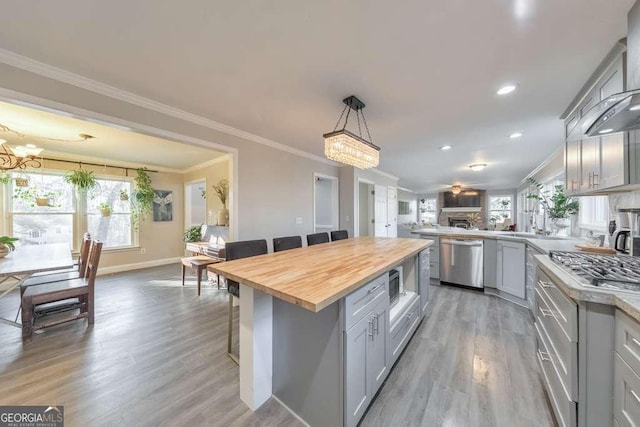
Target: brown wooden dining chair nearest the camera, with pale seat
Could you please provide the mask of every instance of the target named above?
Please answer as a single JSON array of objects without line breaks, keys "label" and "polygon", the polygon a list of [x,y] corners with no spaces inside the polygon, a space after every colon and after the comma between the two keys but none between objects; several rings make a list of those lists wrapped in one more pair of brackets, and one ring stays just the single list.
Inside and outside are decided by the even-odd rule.
[{"label": "brown wooden dining chair nearest the camera, with pale seat", "polygon": [[[22,337],[28,338],[34,330],[59,325],[76,319],[94,322],[95,281],[102,253],[102,242],[94,240],[89,250],[85,277],[29,286],[22,295]],[[78,313],[65,314],[66,312]],[[59,315],[47,320],[49,315]],[[40,320],[41,319],[41,320]]]}]

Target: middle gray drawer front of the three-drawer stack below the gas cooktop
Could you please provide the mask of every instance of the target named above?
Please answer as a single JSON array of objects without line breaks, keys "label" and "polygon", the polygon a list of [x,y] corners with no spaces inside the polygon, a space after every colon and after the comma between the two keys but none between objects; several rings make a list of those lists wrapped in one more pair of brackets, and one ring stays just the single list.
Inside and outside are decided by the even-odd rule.
[{"label": "middle gray drawer front of the three-drawer stack below the gas cooktop", "polygon": [[544,335],[549,357],[567,397],[578,401],[578,343],[570,341],[549,309],[547,299],[537,292],[536,322]]}]

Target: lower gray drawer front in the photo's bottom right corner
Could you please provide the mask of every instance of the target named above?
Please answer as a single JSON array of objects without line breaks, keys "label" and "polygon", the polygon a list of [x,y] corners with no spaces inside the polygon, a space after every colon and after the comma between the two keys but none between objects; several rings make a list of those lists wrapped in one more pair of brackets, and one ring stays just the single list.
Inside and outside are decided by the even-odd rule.
[{"label": "lower gray drawer front in the photo's bottom right corner", "polygon": [[613,416],[620,426],[640,425],[640,377],[616,353],[613,369]]}]

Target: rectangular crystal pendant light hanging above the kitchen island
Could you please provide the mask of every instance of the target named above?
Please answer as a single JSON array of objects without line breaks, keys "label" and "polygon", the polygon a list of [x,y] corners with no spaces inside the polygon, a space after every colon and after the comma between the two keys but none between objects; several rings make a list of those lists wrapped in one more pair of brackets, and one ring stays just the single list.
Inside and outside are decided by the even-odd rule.
[{"label": "rectangular crystal pendant light hanging above the kitchen island", "polygon": [[[354,166],[359,169],[378,166],[378,163],[380,163],[380,147],[371,142],[369,126],[367,126],[367,121],[364,118],[364,113],[362,112],[365,107],[364,103],[355,96],[349,96],[343,99],[342,102],[344,102],[345,107],[338,118],[338,122],[336,123],[336,127],[333,129],[333,132],[322,135],[324,137],[324,155],[330,160]],[[358,121],[358,133],[360,134],[359,136],[346,129],[351,110],[355,111],[356,114],[356,119]],[[347,113],[346,115],[345,112]],[[362,136],[362,124],[360,122],[361,116],[362,124],[364,124],[369,140],[366,140]],[[342,126],[342,129],[338,129],[343,117],[344,125]]]}]

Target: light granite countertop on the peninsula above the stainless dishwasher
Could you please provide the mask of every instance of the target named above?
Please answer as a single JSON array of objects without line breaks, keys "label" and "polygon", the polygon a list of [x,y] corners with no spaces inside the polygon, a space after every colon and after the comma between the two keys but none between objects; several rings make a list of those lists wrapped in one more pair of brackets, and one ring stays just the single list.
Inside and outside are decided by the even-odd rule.
[{"label": "light granite countertop on the peninsula above the stainless dishwasher", "polygon": [[411,233],[421,236],[449,236],[449,237],[477,237],[479,239],[506,240],[510,242],[526,243],[534,249],[548,254],[550,251],[575,251],[576,245],[585,244],[582,239],[575,238],[543,238],[523,236],[526,233],[514,233],[511,231],[486,231],[486,230],[464,230],[453,228],[421,228],[413,230]]}]

